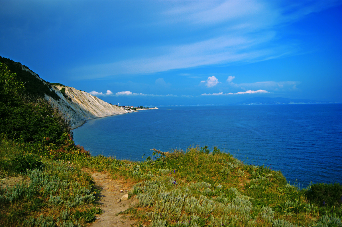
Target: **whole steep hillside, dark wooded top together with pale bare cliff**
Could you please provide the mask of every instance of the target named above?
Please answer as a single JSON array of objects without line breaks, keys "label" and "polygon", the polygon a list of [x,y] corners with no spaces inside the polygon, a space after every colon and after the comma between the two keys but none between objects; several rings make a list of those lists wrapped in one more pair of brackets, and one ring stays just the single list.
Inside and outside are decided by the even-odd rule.
[{"label": "whole steep hillside, dark wooded top together with pale bare cliff", "polygon": [[0,62],[5,63],[11,72],[16,73],[18,80],[24,84],[25,93],[49,100],[70,120],[71,127],[85,120],[127,113],[126,110],[106,103],[87,92],[59,83],[49,83],[20,62],[1,56]]}]

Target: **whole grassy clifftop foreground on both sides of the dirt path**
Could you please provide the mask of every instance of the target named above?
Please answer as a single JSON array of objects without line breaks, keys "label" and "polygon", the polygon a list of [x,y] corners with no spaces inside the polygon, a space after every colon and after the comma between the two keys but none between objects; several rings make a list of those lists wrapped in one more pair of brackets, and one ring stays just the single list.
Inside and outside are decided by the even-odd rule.
[{"label": "whole grassy clifftop foreground on both sides of the dirt path", "polygon": [[[342,187],[312,184],[305,190],[280,171],[245,165],[214,148],[190,147],[145,162],[90,156],[44,141],[17,143],[1,137],[0,172],[20,179],[0,193],[0,226],[84,226],[100,213],[96,189],[82,168],[135,182],[137,205],[122,212],[137,226],[342,226]],[[11,160],[41,162],[26,172]],[[24,165],[25,166],[25,165]],[[64,223],[64,224],[63,224]]]}]

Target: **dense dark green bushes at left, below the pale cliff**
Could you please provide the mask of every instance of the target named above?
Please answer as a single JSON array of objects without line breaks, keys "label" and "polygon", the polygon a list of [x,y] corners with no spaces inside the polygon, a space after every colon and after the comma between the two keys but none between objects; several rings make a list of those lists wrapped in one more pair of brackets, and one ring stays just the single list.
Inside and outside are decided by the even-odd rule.
[{"label": "dense dark green bushes at left, below the pale cliff", "polygon": [[56,142],[69,133],[69,122],[57,108],[24,93],[23,84],[8,67],[0,65],[0,133],[23,141]]}]

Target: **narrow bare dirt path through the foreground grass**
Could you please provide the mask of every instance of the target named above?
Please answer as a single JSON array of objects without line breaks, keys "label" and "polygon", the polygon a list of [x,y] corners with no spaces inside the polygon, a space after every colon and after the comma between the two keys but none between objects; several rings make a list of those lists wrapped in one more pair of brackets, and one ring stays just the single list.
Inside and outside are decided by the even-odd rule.
[{"label": "narrow bare dirt path through the foreground grass", "polygon": [[[89,171],[88,171],[89,172]],[[135,197],[130,199],[122,198],[128,196],[132,184],[124,181],[113,180],[108,173],[89,172],[93,177],[96,186],[101,189],[100,203],[104,213],[97,216],[97,220],[91,223],[92,227],[123,226],[130,227],[134,221],[116,215],[138,202]],[[121,200],[122,198],[122,200]]]}]

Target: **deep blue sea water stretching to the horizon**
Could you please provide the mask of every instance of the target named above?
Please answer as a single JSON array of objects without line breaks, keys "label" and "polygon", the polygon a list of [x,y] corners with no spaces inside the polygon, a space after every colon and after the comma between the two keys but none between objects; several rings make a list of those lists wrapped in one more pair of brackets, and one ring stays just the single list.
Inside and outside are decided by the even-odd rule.
[{"label": "deep blue sea water stretching to the horizon", "polygon": [[300,187],[342,184],[342,104],[159,107],[89,120],[73,132],[92,155],[142,161],[152,148],[217,146]]}]

